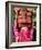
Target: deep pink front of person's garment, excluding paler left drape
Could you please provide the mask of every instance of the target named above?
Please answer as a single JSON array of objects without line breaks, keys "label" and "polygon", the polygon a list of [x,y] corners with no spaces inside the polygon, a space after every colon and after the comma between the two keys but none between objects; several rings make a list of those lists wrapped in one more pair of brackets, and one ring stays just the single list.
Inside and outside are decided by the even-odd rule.
[{"label": "deep pink front of person's garment, excluding paler left drape", "polygon": [[32,34],[31,33],[32,30],[21,30],[20,34],[19,34],[19,38],[18,38],[18,41],[32,41]]}]

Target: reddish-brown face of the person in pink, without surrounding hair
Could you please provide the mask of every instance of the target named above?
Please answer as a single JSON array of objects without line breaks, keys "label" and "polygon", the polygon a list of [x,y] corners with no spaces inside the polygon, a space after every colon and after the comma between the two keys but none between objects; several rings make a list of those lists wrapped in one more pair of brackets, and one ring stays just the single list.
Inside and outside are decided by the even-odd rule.
[{"label": "reddish-brown face of the person in pink, without surrounding hair", "polygon": [[25,10],[20,10],[19,15],[18,15],[18,24],[19,27],[22,26],[27,26],[30,27],[31,26],[31,12],[27,12]]}]

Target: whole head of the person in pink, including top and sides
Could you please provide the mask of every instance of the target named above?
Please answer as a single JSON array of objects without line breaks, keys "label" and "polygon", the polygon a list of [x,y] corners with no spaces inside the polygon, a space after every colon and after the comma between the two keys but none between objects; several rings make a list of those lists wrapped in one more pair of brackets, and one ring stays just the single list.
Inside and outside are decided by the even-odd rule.
[{"label": "whole head of the person in pink, including top and sides", "polygon": [[19,27],[32,26],[33,10],[31,8],[19,8],[17,10],[17,23]]}]

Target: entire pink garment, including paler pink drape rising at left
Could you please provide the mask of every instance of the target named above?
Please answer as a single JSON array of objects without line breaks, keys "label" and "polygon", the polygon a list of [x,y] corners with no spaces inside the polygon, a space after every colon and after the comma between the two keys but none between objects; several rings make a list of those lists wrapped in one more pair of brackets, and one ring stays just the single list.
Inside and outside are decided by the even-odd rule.
[{"label": "entire pink garment, including paler pink drape rising at left", "polygon": [[15,41],[17,42],[22,42],[22,41],[32,41],[33,38],[33,27],[30,30],[20,30],[18,32],[17,28],[17,21],[14,22],[13,26],[13,33],[15,35]]}]

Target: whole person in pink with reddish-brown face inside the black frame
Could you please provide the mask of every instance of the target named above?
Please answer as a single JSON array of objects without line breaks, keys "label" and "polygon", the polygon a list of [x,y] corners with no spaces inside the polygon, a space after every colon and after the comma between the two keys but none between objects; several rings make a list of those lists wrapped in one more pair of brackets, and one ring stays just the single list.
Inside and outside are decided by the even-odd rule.
[{"label": "whole person in pink with reddish-brown face inside the black frame", "polygon": [[32,41],[35,40],[33,28],[33,14],[34,9],[31,8],[14,8],[15,21],[13,25],[13,32],[15,35],[15,41]]}]

